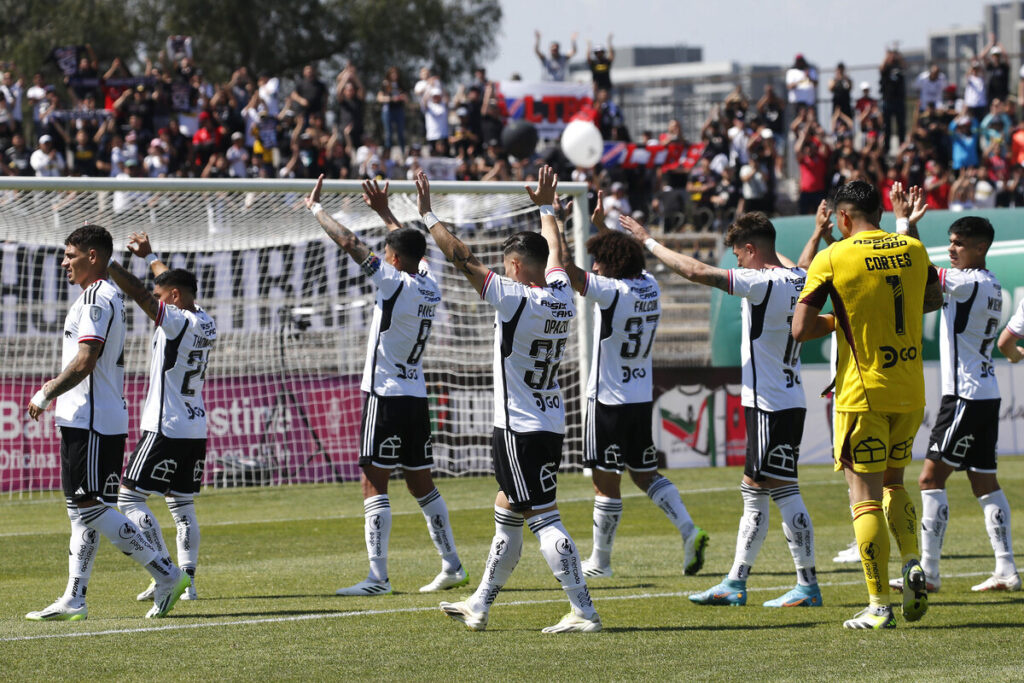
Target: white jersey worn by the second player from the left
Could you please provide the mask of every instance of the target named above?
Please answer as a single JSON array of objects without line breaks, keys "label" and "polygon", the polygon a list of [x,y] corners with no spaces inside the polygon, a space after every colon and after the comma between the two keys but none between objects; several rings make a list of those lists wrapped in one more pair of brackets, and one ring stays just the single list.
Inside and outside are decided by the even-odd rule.
[{"label": "white jersey worn by the second player from the left", "polygon": [[202,308],[193,312],[160,302],[142,431],[171,438],[206,438],[203,384],[216,339],[217,325]]}]

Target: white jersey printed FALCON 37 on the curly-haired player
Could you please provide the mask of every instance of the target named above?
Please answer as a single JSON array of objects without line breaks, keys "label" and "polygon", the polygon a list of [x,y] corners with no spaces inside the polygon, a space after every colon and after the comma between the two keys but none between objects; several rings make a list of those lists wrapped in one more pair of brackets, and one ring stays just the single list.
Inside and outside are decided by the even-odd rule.
[{"label": "white jersey printed FALCON 37 on the curly-haired player", "polygon": [[584,297],[594,302],[594,354],[587,397],[605,405],[651,399],[651,347],[662,316],[662,290],[644,271],[617,280],[587,273]]}]

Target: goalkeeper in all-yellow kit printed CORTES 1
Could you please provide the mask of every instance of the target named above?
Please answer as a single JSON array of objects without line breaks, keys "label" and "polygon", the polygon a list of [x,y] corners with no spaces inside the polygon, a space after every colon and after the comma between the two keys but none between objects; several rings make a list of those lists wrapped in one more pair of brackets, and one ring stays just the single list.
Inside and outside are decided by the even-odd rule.
[{"label": "goalkeeper in all-yellow kit printed CORTES 1", "polygon": [[[925,409],[922,316],[942,305],[938,275],[924,245],[882,230],[882,198],[866,182],[836,194],[843,240],[820,252],[794,311],[793,336],[804,342],[838,330],[835,459],[850,486],[868,606],[848,629],[891,629],[889,530],[903,562],[903,616],[928,609],[918,545],[918,514],[903,488],[913,437]],[[830,298],[834,312],[822,315]]]}]

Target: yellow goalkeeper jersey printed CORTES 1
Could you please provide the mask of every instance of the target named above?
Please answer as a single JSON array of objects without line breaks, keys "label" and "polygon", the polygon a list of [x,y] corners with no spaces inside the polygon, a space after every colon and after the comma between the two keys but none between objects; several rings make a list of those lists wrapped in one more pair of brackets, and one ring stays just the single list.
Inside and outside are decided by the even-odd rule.
[{"label": "yellow goalkeeper jersey printed CORTES 1", "polygon": [[925,405],[925,287],[938,275],[920,241],[858,232],[818,253],[801,303],[831,298],[839,340],[836,410],[907,413]]}]

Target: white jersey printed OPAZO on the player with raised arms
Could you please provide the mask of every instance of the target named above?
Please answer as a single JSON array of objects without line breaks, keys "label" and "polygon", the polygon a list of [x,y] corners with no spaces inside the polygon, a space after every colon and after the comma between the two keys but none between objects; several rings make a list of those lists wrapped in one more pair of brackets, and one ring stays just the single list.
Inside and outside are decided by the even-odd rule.
[{"label": "white jersey printed OPAZO on the player with raised arms", "polygon": [[565,433],[558,366],[575,317],[569,278],[545,273],[529,287],[487,273],[481,298],[495,314],[495,426],[511,431]]}]

